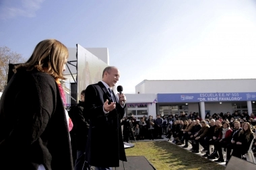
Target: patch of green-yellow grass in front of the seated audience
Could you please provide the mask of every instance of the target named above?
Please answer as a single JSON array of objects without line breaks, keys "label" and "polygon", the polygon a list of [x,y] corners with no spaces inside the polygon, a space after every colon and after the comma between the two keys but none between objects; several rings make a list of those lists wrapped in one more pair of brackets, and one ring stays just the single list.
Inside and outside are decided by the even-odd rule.
[{"label": "patch of green-yellow grass in front of the seated audience", "polygon": [[225,167],[191,153],[167,141],[134,142],[135,146],[125,150],[127,156],[144,156],[156,169],[172,170],[224,170]]}]

